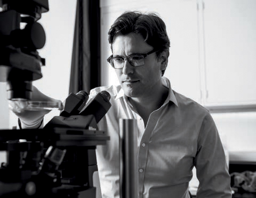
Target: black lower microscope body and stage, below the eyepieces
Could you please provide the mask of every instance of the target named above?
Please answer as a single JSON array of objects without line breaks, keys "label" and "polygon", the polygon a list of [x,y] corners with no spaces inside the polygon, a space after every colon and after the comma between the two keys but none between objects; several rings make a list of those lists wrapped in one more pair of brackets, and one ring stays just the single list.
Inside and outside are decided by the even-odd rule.
[{"label": "black lower microscope body and stage, below the eyepieces", "polygon": [[108,140],[92,114],[55,116],[42,129],[1,130],[7,162],[0,167],[0,197],[96,197],[95,149]]}]

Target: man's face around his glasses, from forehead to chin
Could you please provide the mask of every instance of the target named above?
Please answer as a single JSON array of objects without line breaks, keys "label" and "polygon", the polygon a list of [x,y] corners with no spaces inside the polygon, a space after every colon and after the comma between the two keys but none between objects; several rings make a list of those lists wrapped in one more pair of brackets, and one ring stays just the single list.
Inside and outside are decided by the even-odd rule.
[{"label": "man's face around his glasses, from forehead to chin", "polygon": [[[132,54],[145,54],[153,50],[143,37],[138,33],[129,33],[128,35],[118,35],[113,42],[113,57],[126,58]],[[161,77],[166,67],[157,59],[156,53],[150,54],[145,58],[145,65],[134,67],[129,61],[125,60],[124,67],[115,69],[118,80],[127,97],[138,98],[152,96],[160,86],[162,86]]]}]

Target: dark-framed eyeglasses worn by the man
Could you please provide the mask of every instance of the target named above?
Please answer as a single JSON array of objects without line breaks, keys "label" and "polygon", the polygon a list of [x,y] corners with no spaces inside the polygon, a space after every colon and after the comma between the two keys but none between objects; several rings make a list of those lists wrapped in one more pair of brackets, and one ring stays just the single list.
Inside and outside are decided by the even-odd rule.
[{"label": "dark-framed eyeglasses worn by the man", "polygon": [[146,54],[132,54],[130,56],[128,56],[127,58],[123,58],[123,57],[113,57],[113,55],[109,56],[109,58],[107,59],[107,61],[110,63],[110,65],[116,69],[122,69],[124,67],[124,61],[128,60],[129,63],[134,66],[134,67],[138,67],[138,66],[142,66],[145,64],[145,58],[149,55],[152,54],[154,52],[156,52],[158,50],[151,50]]}]

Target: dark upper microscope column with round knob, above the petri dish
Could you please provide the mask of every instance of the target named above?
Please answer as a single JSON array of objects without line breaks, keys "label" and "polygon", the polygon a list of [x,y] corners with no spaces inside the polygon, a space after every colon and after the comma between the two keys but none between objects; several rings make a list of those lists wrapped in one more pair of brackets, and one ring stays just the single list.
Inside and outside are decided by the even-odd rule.
[{"label": "dark upper microscope column with round knob, above the petri dish", "polygon": [[42,78],[45,59],[37,49],[44,47],[46,36],[38,20],[49,11],[49,3],[0,0],[0,7],[0,82],[7,82],[9,100],[26,101],[31,99],[32,82]]}]

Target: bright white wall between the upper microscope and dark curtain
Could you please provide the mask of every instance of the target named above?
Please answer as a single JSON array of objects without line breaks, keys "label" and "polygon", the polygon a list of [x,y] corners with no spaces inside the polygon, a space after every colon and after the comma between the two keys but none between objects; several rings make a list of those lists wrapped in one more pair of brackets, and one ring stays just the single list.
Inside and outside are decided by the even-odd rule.
[{"label": "bright white wall between the upper microscope and dark curtain", "polygon": [[39,53],[46,58],[46,66],[42,68],[43,78],[34,84],[50,97],[64,99],[69,88],[76,1],[49,1],[49,7],[40,20],[46,44]]}]

